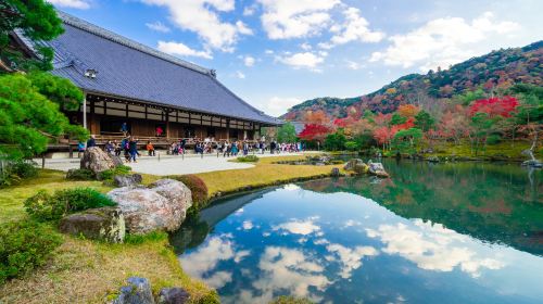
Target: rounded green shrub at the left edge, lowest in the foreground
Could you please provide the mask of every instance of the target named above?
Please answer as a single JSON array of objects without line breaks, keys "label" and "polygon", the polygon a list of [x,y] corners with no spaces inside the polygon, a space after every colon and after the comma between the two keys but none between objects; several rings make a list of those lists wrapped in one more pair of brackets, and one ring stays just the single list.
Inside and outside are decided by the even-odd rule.
[{"label": "rounded green shrub at the left edge, lowest in the foreground", "polygon": [[5,280],[27,275],[41,266],[62,238],[47,225],[34,221],[0,226],[0,286]]}]

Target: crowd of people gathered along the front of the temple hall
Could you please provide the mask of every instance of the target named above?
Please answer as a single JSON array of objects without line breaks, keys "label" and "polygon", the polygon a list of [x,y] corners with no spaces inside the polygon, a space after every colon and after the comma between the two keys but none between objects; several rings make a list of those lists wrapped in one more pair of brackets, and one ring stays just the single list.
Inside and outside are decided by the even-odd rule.
[{"label": "crowd of people gathered along the front of the temple hall", "polygon": [[[139,140],[130,136],[128,132],[124,134],[125,137],[121,141],[110,140],[104,145],[104,151],[111,155],[121,156],[123,154],[125,161],[127,163],[137,163],[137,159],[141,156],[138,152],[138,142]],[[266,151],[269,151],[270,154],[279,154],[279,153],[295,153],[302,152],[305,147],[302,142],[294,143],[278,143],[275,140],[266,142],[263,139],[258,141],[249,141],[249,140],[233,140],[233,141],[215,141],[214,138],[205,138],[203,141],[194,138],[192,140],[193,150],[195,154],[212,154],[214,152],[217,153],[217,156],[223,155],[223,157],[230,156],[239,156],[239,155],[248,155],[252,154],[264,154]],[[192,144],[191,144],[192,145]],[[85,152],[86,149],[97,147],[94,136],[91,136],[90,139],[85,142],[78,143],[78,156]],[[149,156],[155,156],[156,152],[154,149],[154,144],[151,141],[148,141],[144,145],[147,154]],[[167,154],[169,155],[184,155],[186,154],[188,149],[187,139],[182,138],[178,141],[173,142],[168,147]]]}]

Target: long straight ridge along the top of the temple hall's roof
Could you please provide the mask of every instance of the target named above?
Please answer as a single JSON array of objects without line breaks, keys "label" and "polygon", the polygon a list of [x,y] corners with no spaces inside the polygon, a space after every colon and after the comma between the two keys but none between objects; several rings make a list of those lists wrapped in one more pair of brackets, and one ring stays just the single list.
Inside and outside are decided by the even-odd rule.
[{"label": "long straight ridge along the top of the temple hall's roof", "polygon": [[176,56],[166,54],[166,53],[161,52],[159,50],[155,50],[151,47],[148,47],[148,46],[144,46],[140,42],[137,42],[132,39],[129,39],[129,38],[126,38],[122,35],[113,33],[109,29],[105,29],[105,28],[100,27],[98,25],[91,24],[85,20],[73,16],[68,13],[63,12],[63,11],[56,10],[56,14],[62,20],[63,23],[71,25],[71,26],[74,26],[74,27],[77,27],[77,28],[85,30],[85,31],[88,31],[90,34],[93,34],[96,36],[102,37],[104,39],[111,40],[115,43],[123,45],[123,46],[128,47],[130,49],[147,53],[147,54],[155,56],[157,59],[165,60],[167,62],[171,62],[173,64],[176,64],[176,65],[179,65],[182,67],[190,68],[190,69],[192,69],[194,72],[199,72],[201,74],[211,75],[211,73],[212,73],[212,69],[210,69],[210,68],[205,68],[205,67],[202,67],[202,66],[197,65],[194,63],[190,63],[188,61],[178,59]]}]

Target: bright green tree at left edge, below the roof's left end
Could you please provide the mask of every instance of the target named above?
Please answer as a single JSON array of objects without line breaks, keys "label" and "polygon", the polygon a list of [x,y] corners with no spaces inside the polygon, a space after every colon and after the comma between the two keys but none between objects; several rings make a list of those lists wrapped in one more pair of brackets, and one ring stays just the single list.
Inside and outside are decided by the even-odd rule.
[{"label": "bright green tree at left edge, below the roof's left end", "polygon": [[[72,89],[77,88],[73,86]],[[66,104],[80,101],[70,99]],[[22,74],[1,76],[0,155],[13,160],[30,157],[46,151],[52,138],[62,135],[71,135],[81,140],[87,138],[88,131],[83,127],[70,125],[59,107],[59,103],[40,93],[31,77]]]}]

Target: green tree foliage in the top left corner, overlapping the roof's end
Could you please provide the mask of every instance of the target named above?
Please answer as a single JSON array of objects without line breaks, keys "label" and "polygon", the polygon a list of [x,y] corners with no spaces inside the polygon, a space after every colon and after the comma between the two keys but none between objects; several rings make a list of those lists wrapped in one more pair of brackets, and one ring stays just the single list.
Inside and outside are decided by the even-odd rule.
[{"label": "green tree foliage in the top left corner, overlapping the roof's end", "polygon": [[37,47],[39,59],[26,58],[10,48],[10,33],[14,29],[22,30],[33,41],[54,39],[64,29],[53,5],[43,0],[0,1],[0,63],[23,71],[51,69],[53,52],[50,48]]}]

